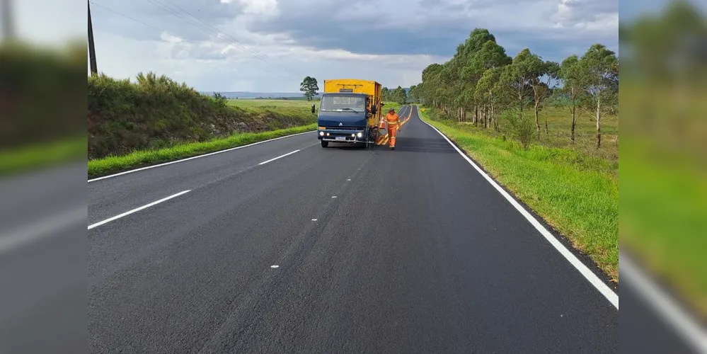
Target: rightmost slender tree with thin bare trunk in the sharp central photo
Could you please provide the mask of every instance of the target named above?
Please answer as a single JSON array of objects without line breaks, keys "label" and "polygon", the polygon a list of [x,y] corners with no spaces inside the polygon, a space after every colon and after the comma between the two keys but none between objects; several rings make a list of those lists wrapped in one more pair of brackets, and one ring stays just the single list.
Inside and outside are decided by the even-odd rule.
[{"label": "rightmost slender tree with thin bare trunk in the sharp central photo", "polygon": [[[580,59],[582,88],[588,94],[587,108],[594,110],[597,121],[597,149],[602,147],[602,115],[611,109],[619,96],[619,62],[616,53],[594,44]],[[604,103],[602,105],[602,103]]]}]

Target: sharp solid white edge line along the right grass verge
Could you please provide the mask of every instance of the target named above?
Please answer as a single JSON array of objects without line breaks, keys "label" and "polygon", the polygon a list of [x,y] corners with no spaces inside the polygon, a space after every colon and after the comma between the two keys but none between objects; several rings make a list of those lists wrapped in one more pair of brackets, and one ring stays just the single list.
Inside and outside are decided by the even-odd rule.
[{"label": "sharp solid white edge line along the right grass verge", "polygon": [[[425,120],[422,121],[425,122]],[[540,232],[540,234],[543,235],[545,239],[548,240],[548,242],[550,242],[550,244],[555,247],[555,249],[559,251],[563,257],[565,257],[565,259],[567,259],[568,262],[570,262],[570,264],[572,264],[575,268],[577,268],[577,270],[580,271],[580,273],[590,282],[590,284],[592,284],[597,290],[599,290],[599,292],[601,292],[602,295],[604,295],[604,297],[606,297],[609,302],[611,302],[611,304],[616,307],[616,309],[619,309],[619,295],[616,294],[614,290],[611,290],[611,288],[608,285],[604,284],[604,282],[599,279],[597,275],[592,273],[592,270],[590,270],[590,268],[587,268],[587,265],[585,265],[585,263],[582,263],[582,261],[580,261],[572,252],[570,252],[570,250],[568,250],[563,244],[561,244],[561,242],[558,241],[558,239],[556,239],[555,236],[553,236],[553,234],[548,231],[548,229],[546,229],[542,224],[540,224],[540,222],[538,222],[537,219],[535,219],[527,210],[525,210],[525,208],[522,207],[519,202],[517,202],[513,197],[511,197],[510,194],[508,194],[503,188],[501,188],[501,186],[498,185],[498,183],[496,183],[493,178],[488,176],[488,174],[486,174],[481,168],[479,168],[479,166],[476,166],[476,164],[471,159],[469,159],[469,156],[466,156],[464,152],[462,152],[458,147],[456,147],[456,145],[453,144],[452,141],[449,140],[446,135],[442,134],[442,132],[437,130],[436,127],[430,125],[430,123],[425,122],[425,124],[432,127],[432,129],[434,129],[435,132],[439,133],[439,135],[442,135],[442,137],[447,140],[447,142],[452,145],[452,147],[454,147],[456,152],[459,152],[459,154],[464,157],[464,159],[469,162],[469,164],[471,164],[471,166],[473,166],[473,168],[476,169],[476,171],[480,173],[481,176],[483,176],[483,178],[488,181],[488,183],[493,185],[493,188],[496,188],[496,190],[498,190],[498,193],[501,193],[501,195],[506,198],[506,200],[508,200],[508,202],[510,202],[511,205],[513,205],[513,207],[515,207],[515,209],[518,210],[518,212],[520,212],[520,214],[523,215],[525,219],[527,219],[528,222],[530,222],[530,224],[533,225],[535,229],[538,230],[538,232]]]}]

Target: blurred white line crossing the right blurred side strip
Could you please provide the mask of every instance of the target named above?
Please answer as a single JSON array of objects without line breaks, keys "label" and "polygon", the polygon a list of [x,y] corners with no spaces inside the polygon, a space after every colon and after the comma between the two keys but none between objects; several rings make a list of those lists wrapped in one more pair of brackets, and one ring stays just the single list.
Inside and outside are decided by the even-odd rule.
[{"label": "blurred white line crossing the right blurred side strip", "polygon": [[659,316],[698,353],[707,353],[707,333],[665,292],[653,284],[631,258],[619,252],[621,275],[636,287],[638,294],[653,305]]}]

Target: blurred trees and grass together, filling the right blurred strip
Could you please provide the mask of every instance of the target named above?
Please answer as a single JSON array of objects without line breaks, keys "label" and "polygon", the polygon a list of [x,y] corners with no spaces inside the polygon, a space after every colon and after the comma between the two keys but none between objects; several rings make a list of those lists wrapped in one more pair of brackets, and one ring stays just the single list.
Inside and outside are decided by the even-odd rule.
[{"label": "blurred trees and grass together, filling the right blurred strip", "polygon": [[[619,28],[621,250],[707,324],[707,13],[687,1]],[[675,58],[680,58],[676,61]]]}]

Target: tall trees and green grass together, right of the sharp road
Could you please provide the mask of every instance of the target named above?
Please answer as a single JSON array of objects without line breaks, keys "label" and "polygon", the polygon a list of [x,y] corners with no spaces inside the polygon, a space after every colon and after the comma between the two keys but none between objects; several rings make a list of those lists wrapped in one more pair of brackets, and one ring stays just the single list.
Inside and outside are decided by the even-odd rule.
[{"label": "tall trees and green grass together, right of the sharp road", "polygon": [[422,118],[619,279],[619,64],[601,44],[561,63],[474,29],[408,101]]}]

